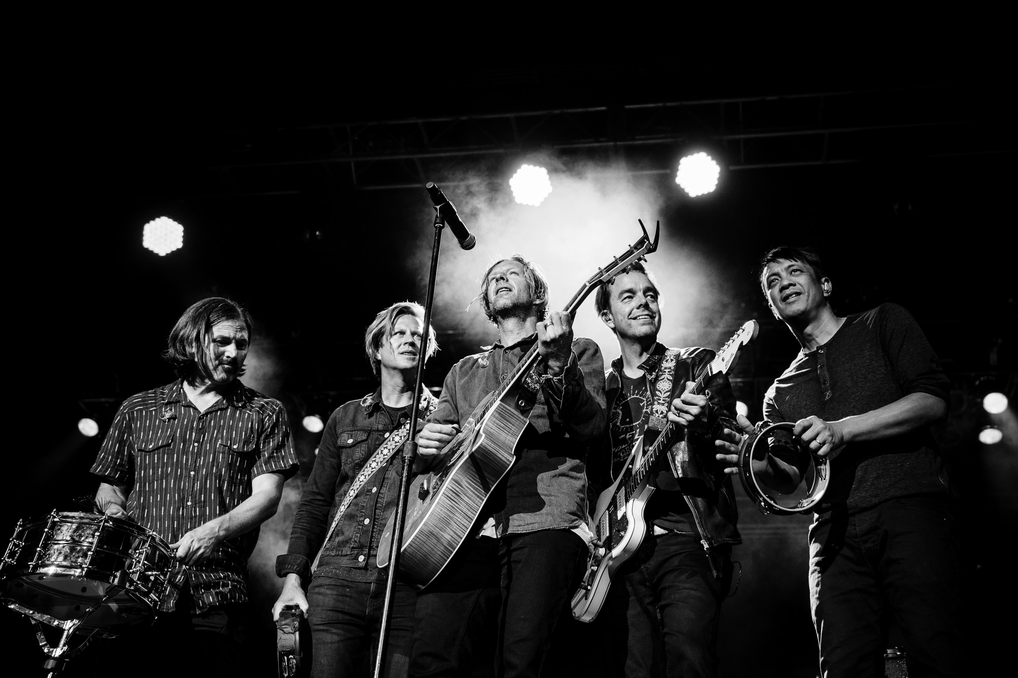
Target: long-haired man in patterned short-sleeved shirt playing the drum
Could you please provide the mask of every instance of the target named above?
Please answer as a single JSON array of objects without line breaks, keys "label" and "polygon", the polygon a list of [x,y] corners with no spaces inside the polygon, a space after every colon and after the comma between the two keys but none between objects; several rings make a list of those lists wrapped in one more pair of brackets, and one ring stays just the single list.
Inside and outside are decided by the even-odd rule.
[{"label": "long-haired man in patterned short-sleeved shirt playing the drum", "polygon": [[243,666],[247,559],[297,470],[283,405],[238,380],[250,335],[229,299],[187,308],[164,352],[177,381],[128,398],[92,466],[102,510],[176,550],[152,632],[127,643],[164,665]]}]

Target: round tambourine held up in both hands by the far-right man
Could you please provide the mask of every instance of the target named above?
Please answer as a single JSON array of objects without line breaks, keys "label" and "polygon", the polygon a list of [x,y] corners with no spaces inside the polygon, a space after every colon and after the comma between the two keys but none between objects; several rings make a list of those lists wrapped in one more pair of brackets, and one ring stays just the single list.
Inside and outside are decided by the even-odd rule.
[{"label": "round tambourine held up in both hands by the far-right man", "polygon": [[[794,441],[791,437],[794,429],[795,425],[790,421],[779,423],[760,421],[756,425],[756,431],[743,438],[739,446],[739,478],[742,481],[742,488],[760,513],[772,515],[812,513],[824,498],[824,493],[827,492],[828,484],[831,482],[830,459],[817,457],[801,446],[800,453],[804,459],[808,458],[809,462],[807,467],[800,469],[802,477],[798,487],[791,493],[782,493],[772,487],[773,481],[769,483],[761,473],[753,472],[752,462],[767,459],[771,441],[776,437],[783,439],[782,442],[786,444],[788,440]],[[788,433],[782,433],[784,431]]]}]

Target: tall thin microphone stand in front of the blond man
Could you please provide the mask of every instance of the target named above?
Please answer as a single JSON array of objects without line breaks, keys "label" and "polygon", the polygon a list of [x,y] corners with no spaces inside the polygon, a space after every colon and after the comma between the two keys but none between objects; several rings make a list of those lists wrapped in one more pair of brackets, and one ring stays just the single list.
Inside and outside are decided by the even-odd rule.
[{"label": "tall thin microphone stand in front of the blond man", "polygon": [[431,336],[432,305],[435,301],[435,276],[439,268],[439,246],[442,244],[442,228],[445,221],[442,213],[435,208],[435,243],[432,245],[432,266],[428,276],[428,296],[425,298],[425,327],[420,340],[420,352],[417,354],[417,379],[413,386],[413,408],[410,410],[410,436],[403,443],[403,472],[399,478],[399,502],[396,504],[396,519],[393,521],[392,546],[389,549],[389,577],[386,579],[385,604],[382,612],[382,627],[379,629],[379,648],[375,657],[375,678],[382,678],[385,667],[385,645],[392,621],[392,596],[396,586],[396,576],[399,574],[399,552],[403,546],[403,524],[406,522],[406,497],[410,491],[410,474],[413,472],[413,460],[416,458],[417,444],[417,410],[420,409],[420,396],[425,384],[425,356],[428,355],[428,341]]}]

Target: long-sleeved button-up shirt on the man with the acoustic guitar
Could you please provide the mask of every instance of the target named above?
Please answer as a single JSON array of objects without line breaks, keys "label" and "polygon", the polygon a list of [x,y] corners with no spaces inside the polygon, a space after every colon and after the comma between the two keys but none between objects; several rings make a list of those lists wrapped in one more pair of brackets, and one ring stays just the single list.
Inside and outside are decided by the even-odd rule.
[{"label": "long-sleeved button-up shirt on the man with the acoustic guitar", "polygon": [[[531,335],[511,346],[496,343],[457,362],[429,420],[464,426],[535,341],[536,335]],[[539,380],[529,423],[516,444],[516,462],[504,481],[500,535],[586,525],[587,448],[604,436],[608,421],[601,349],[589,339],[577,338],[563,374]],[[524,411],[527,407],[524,401]]]}]

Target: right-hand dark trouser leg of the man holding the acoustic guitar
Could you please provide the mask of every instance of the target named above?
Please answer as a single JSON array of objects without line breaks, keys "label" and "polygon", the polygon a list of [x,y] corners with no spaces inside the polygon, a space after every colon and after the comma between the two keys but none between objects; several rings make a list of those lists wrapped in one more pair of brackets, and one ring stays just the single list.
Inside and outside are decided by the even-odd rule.
[{"label": "right-hand dark trouser leg of the man holding the acoustic guitar", "polygon": [[499,545],[500,678],[538,678],[564,606],[586,565],[586,545],[568,529],[507,534]]}]

